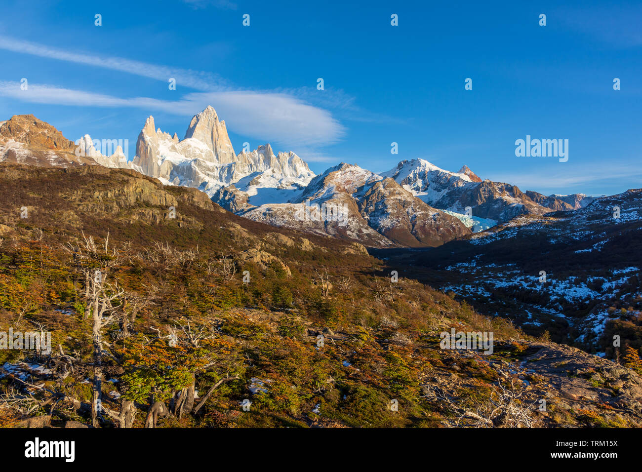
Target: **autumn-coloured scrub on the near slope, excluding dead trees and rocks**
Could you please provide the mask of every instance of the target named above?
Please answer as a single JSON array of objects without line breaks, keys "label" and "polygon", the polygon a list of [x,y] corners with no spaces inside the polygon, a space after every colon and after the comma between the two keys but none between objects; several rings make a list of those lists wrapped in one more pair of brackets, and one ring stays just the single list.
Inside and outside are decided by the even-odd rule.
[{"label": "autumn-coloured scrub on the near slope, excluding dead trees and rocks", "polygon": [[[359,247],[250,222],[202,195],[130,171],[0,164],[0,330],[43,323],[52,344],[76,359],[64,379],[41,378],[46,387],[83,402],[91,398],[90,385],[82,383],[91,378],[92,360],[83,279],[64,250],[84,232],[99,241],[109,235],[117,248],[119,263],[108,278],[130,296],[121,311],[130,316],[135,297],[150,302],[137,308],[128,336],[118,322],[107,328],[105,378],[117,382],[103,383],[103,401],[116,410],[120,400],[110,392],[135,401],[135,426],[143,425],[152,396],[169,403],[193,375],[201,396],[222,378],[238,379],[223,383],[198,414],[169,415],[159,426],[443,426],[464,410],[489,410],[498,379],[523,390],[521,405],[550,394],[548,413],[533,414],[538,424],[636,424],[628,407],[566,405],[550,379],[520,369],[524,356],[539,348],[508,322],[482,317],[417,281],[376,277],[381,261]],[[168,204],[177,218],[167,218]],[[30,216],[21,219],[24,206]],[[279,261],[244,260],[248,249],[272,254],[291,275]],[[225,271],[229,260],[234,274]],[[319,277],[325,270],[332,284],[327,295]],[[164,337],[188,323],[205,339],[194,347],[179,329],[178,345],[169,347]],[[453,326],[494,331],[495,353],[439,349],[438,333]],[[325,335],[320,348],[318,333]],[[21,359],[48,362],[26,351],[0,351],[0,365]],[[589,366],[589,376],[598,368]],[[520,374],[530,379],[528,387]],[[618,393],[608,383],[591,384],[585,374],[577,377],[586,377],[589,389]],[[266,392],[252,394],[252,379],[263,381],[254,383]],[[10,386],[6,377],[0,380],[0,389]],[[239,406],[246,398],[250,412]],[[399,401],[398,412],[388,409],[391,399]],[[24,412],[3,406],[2,424],[21,424]],[[36,408],[29,416],[48,412]],[[58,405],[52,424],[69,419],[86,423],[87,414]]]}]

